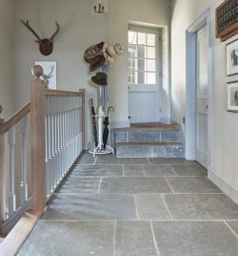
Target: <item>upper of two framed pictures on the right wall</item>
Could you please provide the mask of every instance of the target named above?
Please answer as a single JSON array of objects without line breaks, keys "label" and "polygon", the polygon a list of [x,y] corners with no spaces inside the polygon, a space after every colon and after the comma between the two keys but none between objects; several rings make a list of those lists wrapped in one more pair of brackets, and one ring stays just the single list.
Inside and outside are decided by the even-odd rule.
[{"label": "upper of two framed pictures on the right wall", "polygon": [[238,39],[227,44],[228,75],[238,75]]}]

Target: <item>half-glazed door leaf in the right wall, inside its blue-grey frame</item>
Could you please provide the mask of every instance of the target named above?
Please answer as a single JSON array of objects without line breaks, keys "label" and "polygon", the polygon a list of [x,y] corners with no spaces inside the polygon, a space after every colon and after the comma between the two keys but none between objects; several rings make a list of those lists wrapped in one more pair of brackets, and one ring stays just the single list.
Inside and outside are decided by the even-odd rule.
[{"label": "half-glazed door leaf in the right wall, inside its blue-grey frame", "polygon": [[208,167],[208,40],[207,27],[197,32],[196,160]]}]

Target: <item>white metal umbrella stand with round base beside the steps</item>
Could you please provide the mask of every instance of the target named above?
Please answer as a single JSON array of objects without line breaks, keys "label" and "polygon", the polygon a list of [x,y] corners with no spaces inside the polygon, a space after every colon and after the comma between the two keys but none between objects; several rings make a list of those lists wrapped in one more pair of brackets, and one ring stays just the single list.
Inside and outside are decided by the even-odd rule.
[{"label": "white metal umbrella stand with round base beside the steps", "polygon": [[89,153],[93,154],[93,157],[95,155],[108,155],[108,154],[114,154],[114,149],[109,146],[105,146],[104,148],[104,142],[103,142],[103,118],[108,117],[108,115],[103,111],[103,106],[101,105],[101,86],[100,86],[100,106],[98,115],[95,115],[95,118],[98,118],[98,145],[94,149],[90,149]]}]

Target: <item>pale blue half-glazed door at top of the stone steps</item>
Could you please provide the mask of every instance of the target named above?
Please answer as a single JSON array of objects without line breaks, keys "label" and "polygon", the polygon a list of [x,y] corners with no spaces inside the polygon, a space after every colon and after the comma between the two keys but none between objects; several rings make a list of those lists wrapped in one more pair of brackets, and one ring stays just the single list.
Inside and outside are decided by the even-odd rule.
[{"label": "pale blue half-glazed door at top of the stone steps", "polygon": [[159,31],[129,28],[129,122],[160,120]]}]

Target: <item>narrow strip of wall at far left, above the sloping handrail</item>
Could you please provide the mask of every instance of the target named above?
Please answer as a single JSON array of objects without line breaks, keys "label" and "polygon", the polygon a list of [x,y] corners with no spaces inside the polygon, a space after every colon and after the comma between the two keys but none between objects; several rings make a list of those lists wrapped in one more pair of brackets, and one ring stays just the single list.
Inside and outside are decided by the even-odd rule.
[{"label": "narrow strip of wall at far left, above the sloping handrail", "polygon": [[8,118],[14,112],[13,70],[12,70],[12,35],[13,1],[0,0],[0,105],[1,117]]}]

